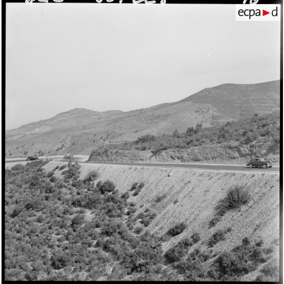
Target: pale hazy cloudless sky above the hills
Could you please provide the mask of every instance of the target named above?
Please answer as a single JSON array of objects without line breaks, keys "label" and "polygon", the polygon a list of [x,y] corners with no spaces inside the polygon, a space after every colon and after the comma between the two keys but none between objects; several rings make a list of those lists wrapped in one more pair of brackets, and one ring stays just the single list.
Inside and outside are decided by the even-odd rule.
[{"label": "pale hazy cloudless sky above the hills", "polygon": [[6,129],[280,77],[280,22],[235,5],[7,4]]}]

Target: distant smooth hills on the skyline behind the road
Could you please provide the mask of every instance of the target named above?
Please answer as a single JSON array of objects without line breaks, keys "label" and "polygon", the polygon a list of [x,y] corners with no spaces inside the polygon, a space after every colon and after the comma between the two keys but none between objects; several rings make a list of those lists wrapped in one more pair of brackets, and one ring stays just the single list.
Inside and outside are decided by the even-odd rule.
[{"label": "distant smooth hills on the skyline behind the road", "polygon": [[179,102],[123,112],[74,109],[53,118],[6,131],[7,157],[89,154],[108,141],[131,141],[145,134],[172,134],[202,123],[228,121],[279,110],[279,80],[259,84],[223,84]]}]

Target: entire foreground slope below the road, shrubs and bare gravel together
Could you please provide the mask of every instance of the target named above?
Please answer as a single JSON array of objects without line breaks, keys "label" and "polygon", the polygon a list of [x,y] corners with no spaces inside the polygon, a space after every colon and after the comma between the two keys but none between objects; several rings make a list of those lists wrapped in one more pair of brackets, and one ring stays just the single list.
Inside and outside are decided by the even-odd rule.
[{"label": "entire foreground slope below the road, shrubs and bare gravel together", "polygon": [[6,280],[279,280],[277,174],[54,161],[5,174]]}]

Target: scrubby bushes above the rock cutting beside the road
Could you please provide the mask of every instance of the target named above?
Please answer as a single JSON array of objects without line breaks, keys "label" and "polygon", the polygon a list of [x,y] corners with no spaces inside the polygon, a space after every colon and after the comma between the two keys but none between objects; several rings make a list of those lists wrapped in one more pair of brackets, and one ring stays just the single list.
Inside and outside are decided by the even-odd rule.
[{"label": "scrubby bushes above the rock cutting beside the road", "polygon": [[[239,145],[252,142],[255,147],[265,143],[279,143],[280,114],[278,111],[269,115],[259,116],[257,113],[251,118],[227,122],[223,126],[203,128],[198,123],[195,128],[189,127],[186,132],[177,130],[172,135],[144,135],[136,141],[109,144],[96,148],[92,154],[100,155],[109,150],[152,150],[159,152],[167,149],[190,148],[237,141]],[[92,155],[91,154],[91,155]]]}]

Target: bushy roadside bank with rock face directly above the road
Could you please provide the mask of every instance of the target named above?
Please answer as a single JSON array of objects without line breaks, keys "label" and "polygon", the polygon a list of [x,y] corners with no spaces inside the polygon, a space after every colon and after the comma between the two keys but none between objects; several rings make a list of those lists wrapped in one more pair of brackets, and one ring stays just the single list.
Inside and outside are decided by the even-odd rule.
[{"label": "bushy roadside bank with rock face directly above the road", "polygon": [[198,124],[172,135],[144,135],[135,141],[95,148],[89,161],[245,163],[252,157],[279,161],[280,113],[203,128]]}]

